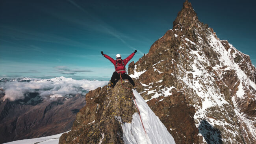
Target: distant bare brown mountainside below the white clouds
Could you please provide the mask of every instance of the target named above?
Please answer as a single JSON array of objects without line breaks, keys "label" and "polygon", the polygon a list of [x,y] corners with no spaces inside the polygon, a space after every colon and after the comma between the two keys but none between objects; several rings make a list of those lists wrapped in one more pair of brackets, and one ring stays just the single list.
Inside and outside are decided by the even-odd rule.
[{"label": "distant bare brown mountainside below the white clouds", "polygon": [[84,105],[85,97],[81,94],[49,100],[35,92],[27,94],[24,100],[0,101],[0,143],[68,131]]}]

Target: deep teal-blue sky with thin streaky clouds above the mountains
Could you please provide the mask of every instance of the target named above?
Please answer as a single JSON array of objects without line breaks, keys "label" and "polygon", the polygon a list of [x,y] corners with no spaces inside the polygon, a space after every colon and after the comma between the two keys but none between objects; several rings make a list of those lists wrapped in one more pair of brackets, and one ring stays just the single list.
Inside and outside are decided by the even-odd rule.
[{"label": "deep teal-blue sky with thin streaky clouds above the mountains", "polygon": [[[185,0],[184,0],[185,1]],[[173,27],[183,0],[2,0],[0,78],[57,76],[108,80],[102,55],[131,61]],[[256,64],[255,2],[190,0],[201,22]]]}]

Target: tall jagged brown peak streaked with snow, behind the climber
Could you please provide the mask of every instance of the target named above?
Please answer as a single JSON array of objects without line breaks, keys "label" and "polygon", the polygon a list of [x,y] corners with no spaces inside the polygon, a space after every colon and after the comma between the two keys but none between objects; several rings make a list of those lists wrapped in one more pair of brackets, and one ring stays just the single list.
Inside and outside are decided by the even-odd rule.
[{"label": "tall jagged brown peak streaked with snow, behind the climber", "polygon": [[256,143],[255,66],[187,0],[173,29],[128,70],[176,143]]}]

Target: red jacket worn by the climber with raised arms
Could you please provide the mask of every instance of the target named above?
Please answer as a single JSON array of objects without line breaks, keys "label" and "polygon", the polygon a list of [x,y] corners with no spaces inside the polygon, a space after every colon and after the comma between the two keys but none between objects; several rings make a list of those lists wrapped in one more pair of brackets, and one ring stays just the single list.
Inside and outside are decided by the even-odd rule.
[{"label": "red jacket worn by the climber with raised arms", "polygon": [[[131,55],[129,55],[126,59],[121,59],[121,63],[117,63],[117,60],[114,60],[114,59],[112,59],[111,57],[109,57],[108,55],[106,55],[106,54],[104,54],[103,56],[104,57],[106,57],[107,59],[109,59],[109,61],[111,61],[111,63],[113,63],[114,64],[114,66],[115,66],[115,71],[117,72],[117,73],[122,73],[122,74],[124,74],[124,73],[126,73],[126,71],[125,71],[125,66],[126,66],[126,64],[128,63],[128,61],[130,61],[130,59],[132,59],[132,57],[134,57],[134,52],[131,54]],[[116,64],[117,64],[117,66],[116,66]]]}]

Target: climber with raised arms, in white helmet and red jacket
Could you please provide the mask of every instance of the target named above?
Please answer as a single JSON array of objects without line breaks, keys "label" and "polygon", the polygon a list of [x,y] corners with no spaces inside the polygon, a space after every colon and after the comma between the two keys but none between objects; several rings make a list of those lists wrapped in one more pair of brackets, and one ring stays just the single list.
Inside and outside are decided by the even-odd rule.
[{"label": "climber with raised arms, in white helmet and red jacket", "polygon": [[[130,59],[132,59],[132,57],[135,55],[136,52],[137,52],[137,50],[135,50],[126,59],[122,59],[121,54],[117,54],[115,56],[117,58],[117,60],[114,60],[111,57],[109,57],[108,55],[103,54],[103,51],[101,51],[101,54],[104,57],[106,57],[107,59],[109,59],[109,61],[111,61],[111,63],[113,63],[115,65],[115,72],[113,72],[110,83],[108,85],[109,87],[111,87],[113,89],[115,87],[115,84],[117,83],[117,81],[122,77],[122,79],[128,79],[128,81],[130,81],[130,83],[132,84],[134,89],[136,89],[134,81],[132,80],[132,78],[130,76],[128,76],[126,74],[126,68],[125,68],[128,61],[130,61]],[[117,79],[117,80],[115,80],[115,79]]]}]

